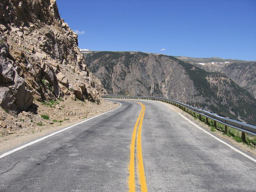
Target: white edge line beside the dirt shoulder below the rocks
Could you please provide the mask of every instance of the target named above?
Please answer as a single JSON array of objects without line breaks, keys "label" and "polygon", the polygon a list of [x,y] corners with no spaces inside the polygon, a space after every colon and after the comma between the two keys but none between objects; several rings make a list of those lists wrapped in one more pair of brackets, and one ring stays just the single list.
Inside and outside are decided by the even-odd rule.
[{"label": "white edge line beside the dirt shoulder below the rocks", "polygon": [[[115,101],[115,102],[116,102],[116,101]],[[116,103],[119,103],[119,102],[116,102]],[[119,105],[117,108],[121,107],[121,105],[122,105],[121,103],[119,103],[119,104],[120,104],[120,105]],[[113,110],[115,110],[115,109],[117,109],[117,108],[114,108],[114,109],[112,109],[112,110],[110,110],[110,111],[113,111]],[[59,131],[57,131],[57,132],[51,133],[50,135],[46,135],[46,136],[44,136],[44,137],[42,137],[42,138],[40,138],[40,139],[31,141],[31,142],[29,142],[29,143],[27,143],[27,144],[25,144],[25,145],[22,145],[22,146],[20,146],[20,147],[18,147],[18,148],[12,149],[11,151],[8,151],[8,152],[2,154],[2,155],[0,156],[0,159],[3,158],[3,157],[5,157],[5,156],[7,156],[7,155],[10,155],[10,154],[14,153],[15,151],[18,151],[18,150],[20,150],[20,149],[23,149],[23,148],[25,148],[25,147],[28,147],[28,146],[33,145],[33,144],[35,144],[35,143],[38,143],[39,141],[45,140],[45,139],[48,138],[48,137],[51,137],[51,136],[56,135],[56,134],[58,134],[58,133],[60,133],[60,132],[66,131],[66,130],[68,130],[68,129],[70,129],[70,128],[76,126],[76,125],[79,125],[79,124],[81,124],[81,123],[84,123],[84,122],[86,122],[86,121],[89,121],[89,120],[91,120],[91,119],[93,119],[93,118],[95,118],[95,117],[104,115],[104,114],[106,114],[106,113],[108,113],[108,112],[110,112],[110,111],[101,113],[100,115],[97,115],[97,116],[93,116],[93,117],[91,117],[91,118],[89,118],[89,119],[86,119],[86,120],[84,120],[84,121],[81,121],[81,122],[79,122],[79,123],[77,123],[77,124],[71,125],[71,126],[66,127],[66,128],[64,128],[64,129],[61,129],[61,130],[59,130]]]}]

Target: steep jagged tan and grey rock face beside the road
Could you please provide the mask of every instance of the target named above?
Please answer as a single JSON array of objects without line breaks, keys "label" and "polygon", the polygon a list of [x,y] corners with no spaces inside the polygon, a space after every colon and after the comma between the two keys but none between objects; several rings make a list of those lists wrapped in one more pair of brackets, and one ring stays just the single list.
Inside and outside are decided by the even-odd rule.
[{"label": "steep jagged tan and grey rock face beside the road", "polygon": [[5,39],[1,40],[1,98],[10,95],[9,88],[12,99],[8,99],[13,101],[1,103],[8,110],[27,110],[33,97],[56,100],[71,95],[68,89],[76,83],[84,86],[82,96],[76,94],[79,99],[100,102],[100,94],[106,93],[85,65],[77,34],[60,19],[55,0],[1,1],[0,35]]}]

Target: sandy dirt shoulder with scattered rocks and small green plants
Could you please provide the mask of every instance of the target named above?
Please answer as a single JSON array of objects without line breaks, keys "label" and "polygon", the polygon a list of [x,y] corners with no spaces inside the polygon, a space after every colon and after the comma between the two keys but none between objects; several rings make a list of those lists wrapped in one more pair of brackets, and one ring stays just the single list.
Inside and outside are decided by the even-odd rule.
[{"label": "sandy dirt shoulder with scattered rocks and small green plants", "polygon": [[[7,114],[0,109],[0,118],[4,122],[0,128],[0,152],[28,141],[48,135],[57,130],[70,125],[84,121],[85,119],[99,115],[119,106],[118,103],[100,100],[100,104],[92,102],[83,102],[80,100],[58,100],[54,105],[35,102],[38,106],[36,114],[32,112],[23,112],[18,116]],[[60,108],[58,108],[60,107]],[[49,116],[44,119],[42,116]]]}]

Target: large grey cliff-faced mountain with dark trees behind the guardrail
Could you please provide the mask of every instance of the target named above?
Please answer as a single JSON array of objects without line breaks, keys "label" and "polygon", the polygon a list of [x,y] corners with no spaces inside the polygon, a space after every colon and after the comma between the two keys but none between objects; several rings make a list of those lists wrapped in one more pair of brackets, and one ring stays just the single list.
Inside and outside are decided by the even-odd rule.
[{"label": "large grey cliff-faced mountain with dark trees behind the guardrail", "polygon": [[84,56],[109,93],[171,98],[256,124],[256,99],[222,73],[142,52],[84,52]]}]

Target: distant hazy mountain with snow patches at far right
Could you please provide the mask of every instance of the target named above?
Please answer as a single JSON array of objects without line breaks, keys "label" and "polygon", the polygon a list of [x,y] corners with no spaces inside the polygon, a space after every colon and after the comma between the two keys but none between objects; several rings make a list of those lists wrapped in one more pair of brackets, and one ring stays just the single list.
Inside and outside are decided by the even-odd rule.
[{"label": "distant hazy mountain with snow patches at far right", "polygon": [[224,73],[256,98],[256,61],[221,59],[218,57],[191,58],[177,56],[176,58],[209,72]]}]

